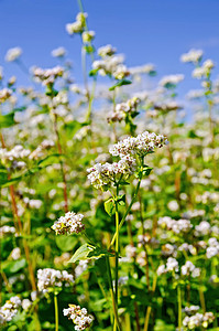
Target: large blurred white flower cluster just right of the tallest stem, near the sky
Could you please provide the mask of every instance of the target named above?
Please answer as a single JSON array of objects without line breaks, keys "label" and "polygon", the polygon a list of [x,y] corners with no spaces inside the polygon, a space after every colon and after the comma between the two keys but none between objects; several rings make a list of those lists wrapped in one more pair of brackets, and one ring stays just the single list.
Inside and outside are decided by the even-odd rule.
[{"label": "large blurred white flower cluster just right of the tallest stem, near the sky", "polygon": [[97,70],[101,76],[109,75],[113,76],[116,79],[123,79],[130,75],[123,61],[123,55],[105,56],[92,63],[92,70]]}]

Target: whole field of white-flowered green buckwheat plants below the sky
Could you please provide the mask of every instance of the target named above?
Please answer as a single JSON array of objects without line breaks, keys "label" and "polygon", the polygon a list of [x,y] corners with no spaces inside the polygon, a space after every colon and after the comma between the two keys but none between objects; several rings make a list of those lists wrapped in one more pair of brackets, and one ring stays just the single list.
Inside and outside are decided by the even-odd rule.
[{"label": "whole field of white-flowered green buckwheat plants below the sky", "polygon": [[64,47],[8,51],[26,87],[0,67],[1,330],[219,330],[216,64],[185,52],[179,98],[183,74],[96,49],[79,10],[84,84]]}]

